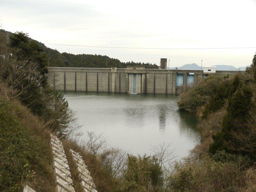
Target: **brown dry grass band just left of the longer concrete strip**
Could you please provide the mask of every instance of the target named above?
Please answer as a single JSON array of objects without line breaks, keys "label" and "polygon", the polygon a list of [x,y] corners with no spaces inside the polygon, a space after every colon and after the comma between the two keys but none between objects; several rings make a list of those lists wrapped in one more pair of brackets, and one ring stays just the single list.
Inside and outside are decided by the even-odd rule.
[{"label": "brown dry grass band just left of the longer concrete strip", "polygon": [[[4,99],[3,86],[0,84],[0,98]],[[41,118],[32,114],[32,112],[25,106],[23,106],[18,99],[12,100],[9,103],[10,114],[18,120],[20,126],[24,127],[24,130],[31,135],[35,146],[30,146],[31,143],[27,145],[33,149],[31,155],[33,159],[31,160],[31,170],[29,172],[34,172],[31,177],[26,180],[17,183],[19,186],[29,185],[36,191],[49,192],[55,190],[55,175],[52,167],[52,148],[50,144],[50,135],[48,127]],[[26,141],[27,138],[23,138]],[[33,154],[34,152],[34,154]],[[15,174],[15,173],[14,173]],[[8,191],[8,190],[7,190]]]}]

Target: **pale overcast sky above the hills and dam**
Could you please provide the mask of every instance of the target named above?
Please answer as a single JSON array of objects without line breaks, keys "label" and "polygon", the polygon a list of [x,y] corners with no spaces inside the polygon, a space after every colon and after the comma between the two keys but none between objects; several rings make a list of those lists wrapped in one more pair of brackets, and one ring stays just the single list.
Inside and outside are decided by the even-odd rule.
[{"label": "pale overcast sky above the hills and dam", "polygon": [[[256,47],[256,0],[0,0],[0,22],[42,43],[144,48]],[[47,45],[171,66],[246,66],[256,48],[154,50]]]}]

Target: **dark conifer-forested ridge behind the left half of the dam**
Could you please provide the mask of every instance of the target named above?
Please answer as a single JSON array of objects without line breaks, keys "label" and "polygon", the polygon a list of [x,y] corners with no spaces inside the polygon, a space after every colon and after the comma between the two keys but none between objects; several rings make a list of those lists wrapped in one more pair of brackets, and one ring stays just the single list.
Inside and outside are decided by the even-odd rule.
[{"label": "dark conifer-forested ridge behind the left half of the dam", "polygon": [[[0,29],[0,34],[6,36],[7,41],[10,40],[8,36],[13,36],[13,33]],[[36,43],[44,49],[46,57],[50,58],[48,67],[81,67],[81,68],[106,68],[108,59],[108,68],[126,68],[127,65],[143,65],[148,69],[157,69],[156,64],[137,63],[137,62],[121,62],[118,59],[109,58],[106,55],[91,55],[91,54],[71,54],[60,53],[57,50],[46,47],[43,43],[36,41]]]}]

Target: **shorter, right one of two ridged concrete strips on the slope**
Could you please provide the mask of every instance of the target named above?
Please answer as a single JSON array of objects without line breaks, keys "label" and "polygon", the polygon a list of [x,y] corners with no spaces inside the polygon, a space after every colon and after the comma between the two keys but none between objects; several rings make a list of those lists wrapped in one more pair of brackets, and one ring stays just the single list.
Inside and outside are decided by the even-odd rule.
[{"label": "shorter, right one of two ridged concrete strips on the slope", "polygon": [[80,156],[79,153],[73,151],[70,149],[70,152],[72,154],[73,160],[76,162],[77,170],[81,176],[81,186],[84,188],[85,192],[97,192],[95,189],[95,184],[92,181],[92,177],[90,175],[89,170],[87,169],[87,166],[84,164],[83,157]]}]

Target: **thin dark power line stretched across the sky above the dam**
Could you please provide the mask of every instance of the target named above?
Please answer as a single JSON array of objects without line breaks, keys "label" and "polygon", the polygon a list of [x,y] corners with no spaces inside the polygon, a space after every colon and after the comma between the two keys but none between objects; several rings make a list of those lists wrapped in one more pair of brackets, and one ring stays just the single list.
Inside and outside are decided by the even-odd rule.
[{"label": "thin dark power line stretched across the sky above the dam", "polygon": [[68,44],[53,44],[45,43],[48,45],[65,45],[76,47],[95,47],[95,48],[117,48],[117,49],[250,49],[256,47],[212,47],[212,48],[144,48],[144,47],[104,47],[104,46],[88,46],[88,45],[68,45]]}]

